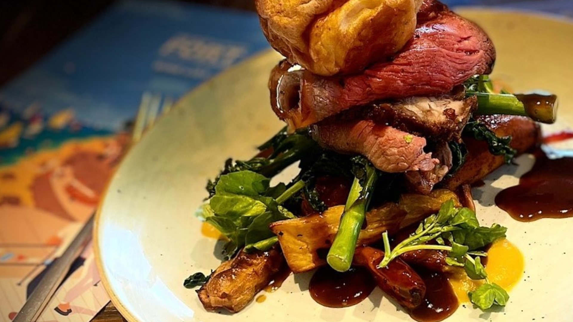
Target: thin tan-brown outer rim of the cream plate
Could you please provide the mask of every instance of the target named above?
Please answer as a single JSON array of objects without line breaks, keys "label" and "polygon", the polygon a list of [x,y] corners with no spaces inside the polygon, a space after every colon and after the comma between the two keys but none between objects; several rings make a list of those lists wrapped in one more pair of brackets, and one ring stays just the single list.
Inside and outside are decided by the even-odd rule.
[{"label": "thin tan-brown outer rim of the cream plate", "polygon": [[[456,13],[461,12],[462,14],[466,11],[472,11],[476,13],[497,13],[497,14],[507,14],[507,15],[523,15],[527,17],[533,17],[538,19],[545,19],[554,22],[565,23],[568,25],[573,26],[573,18],[560,15],[560,14],[552,14],[552,13],[544,13],[541,11],[534,11],[534,10],[523,10],[523,9],[516,9],[516,8],[506,8],[506,7],[487,7],[487,6],[452,6],[452,10]],[[181,103],[186,100],[186,97],[194,95],[195,92],[201,91],[205,87],[209,87],[211,83],[218,81],[219,78],[222,78],[227,73],[233,72],[234,69],[240,68],[241,65],[247,64],[250,61],[257,60],[261,56],[268,55],[271,52],[275,52],[274,49],[269,48],[266,50],[262,50],[261,52],[254,54],[254,56],[249,57],[248,59],[241,61],[237,65],[231,66],[229,69],[223,70],[222,72],[216,74],[215,76],[211,77],[209,80],[204,81],[203,83],[199,84],[197,87],[191,89],[190,91],[186,92],[185,95],[180,97],[176,103],[173,105],[170,113],[174,112],[176,109],[183,108],[184,105]],[[161,122],[164,115],[158,117],[156,124]],[[142,137],[141,140],[145,140],[145,136]],[[102,213],[102,206],[105,203],[105,200],[108,198],[108,188],[112,185],[112,183],[116,180],[116,176],[119,174],[119,170],[123,166],[125,160],[127,159],[128,155],[132,153],[132,147],[128,147],[127,152],[120,160],[119,164],[117,164],[116,170],[112,175],[112,178],[108,181],[105,186],[103,193],[101,194],[103,197],[101,198],[100,203],[97,205],[97,209],[95,211],[95,218],[94,218],[94,225],[92,231],[92,241],[93,241],[93,254],[95,257],[95,263],[97,267],[97,272],[100,275],[101,284],[104,287],[105,292],[108,294],[111,303],[117,309],[117,311],[121,314],[121,316],[127,320],[128,322],[142,322],[138,320],[135,315],[133,315],[129,309],[125,308],[124,305],[121,303],[119,297],[113,291],[111,283],[108,280],[108,276],[106,276],[104,271],[103,265],[103,258],[101,256],[101,248],[100,248],[100,241],[99,241],[99,231],[100,231],[100,223],[101,223],[101,213]],[[109,303],[108,303],[109,304]],[[106,304],[105,306],[107,306]],[[105,308],[105,307],[104,307]]]}]

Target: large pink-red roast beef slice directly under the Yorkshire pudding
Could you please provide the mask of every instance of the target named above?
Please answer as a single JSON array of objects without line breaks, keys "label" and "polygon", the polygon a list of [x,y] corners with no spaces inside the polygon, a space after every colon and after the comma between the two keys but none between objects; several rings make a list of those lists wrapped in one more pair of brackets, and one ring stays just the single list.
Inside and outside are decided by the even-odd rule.
[{"label": "large pink-red roast beef slice directly under the Yorkshire pudding", "polygon": [[[271,101],[274,111],[291,128],[301,128],[376,100],[449,93],[474,74],[489,73],[495,50],[485,32],[451,11],[434,15],[419,23],[413,40],[392,60],[360,74],[321,77],[274,69],[269,82],[271,96],[278,96]],[[285,93],[288,99],[281,99]]]}]

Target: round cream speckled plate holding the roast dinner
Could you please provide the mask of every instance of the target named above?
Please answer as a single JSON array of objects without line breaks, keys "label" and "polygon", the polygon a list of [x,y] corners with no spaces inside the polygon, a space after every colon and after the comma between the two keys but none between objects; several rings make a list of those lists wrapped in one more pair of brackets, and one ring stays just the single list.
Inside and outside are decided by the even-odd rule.
[{"label": "round cream speckled plate holding the roast dinner", "polygon": [[[516,91],[547,89],[561,99],[558,131],[573,120],[573,25],[539,15],[463,11],[493,38],[495,78]],[[282,127],[269,108],[268,74],[280,57],[268,52],[215,77],[189,95],[144,137],[113,178],[96,222],[96,253],[105,288],[131,322],[179,321],[404,321],[410,318],[376,290],[355,307],[332,309],[308,294],[308,274],[291,276],[264,303],[236,315],[207,313],[197,294],[183,288],[189,274],[218,266],[215,241],[202,237],[194,211],[203,187],[230,156],[246,159]],[[531,167],[490,175],[478,189],[478,217],[509,227],[508,238],[525,254],[523,281],[504,312],[462,308],[450,321],[573,321],[573,218],[513,221],[492,206],[496,191],[517,183]],[[509,174],[509,175],[508,175]]]}]

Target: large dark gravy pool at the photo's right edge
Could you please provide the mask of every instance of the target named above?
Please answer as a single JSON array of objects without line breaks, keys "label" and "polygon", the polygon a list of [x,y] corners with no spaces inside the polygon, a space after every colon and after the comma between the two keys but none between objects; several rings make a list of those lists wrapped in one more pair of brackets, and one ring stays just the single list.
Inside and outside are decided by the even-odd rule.
[{"label": "large dark gravy pool at the photo's right edge", "polygon": [[573,158],[549,159],[542,152],[517,186],[496,196],[496,205],[518,221],[573,217]]}]

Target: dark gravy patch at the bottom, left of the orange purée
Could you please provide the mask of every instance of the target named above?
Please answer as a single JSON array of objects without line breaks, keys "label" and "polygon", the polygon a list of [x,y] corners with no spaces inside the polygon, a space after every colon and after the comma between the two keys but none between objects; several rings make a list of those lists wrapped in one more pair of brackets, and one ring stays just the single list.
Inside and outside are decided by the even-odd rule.
[{"label": "dark gravy patch at the bottom, left of the orange pur\u00e9e", "polygon": [[426,296],[422,304],[410,312],[412,319],[421,322],[442,321],[459,306],[458,298],[448,278],[443,273],[417,270],[426,284]]}]

